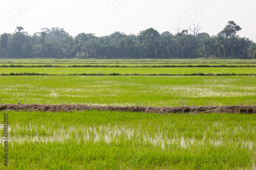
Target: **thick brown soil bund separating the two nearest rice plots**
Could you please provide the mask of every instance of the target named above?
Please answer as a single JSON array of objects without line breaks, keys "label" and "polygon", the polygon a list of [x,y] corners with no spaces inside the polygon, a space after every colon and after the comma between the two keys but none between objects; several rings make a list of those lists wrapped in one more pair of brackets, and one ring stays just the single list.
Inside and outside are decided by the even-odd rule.
[{"label": "thick brown soil bund separating the two nearest rice plots", "polygon": [[180,106],[180,107],[146,107],[146,106],[95,106],[95,105],[44,105],[44,104],[1,104],[0,111],[42,111],[72,112],[85,110],[144,112],[144,113],[240,113],[255,114],[256,106]]}]

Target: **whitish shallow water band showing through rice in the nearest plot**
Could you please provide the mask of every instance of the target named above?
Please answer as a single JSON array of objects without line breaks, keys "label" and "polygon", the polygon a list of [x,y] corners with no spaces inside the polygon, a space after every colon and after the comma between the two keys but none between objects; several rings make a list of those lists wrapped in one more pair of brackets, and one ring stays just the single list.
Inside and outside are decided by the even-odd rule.
[{"label": "whitish shallow water band showing through rice in the nearest plot", "polygon": [[[2,130],[4,125],[0,124],[0,130]],[[39,134],[40,129],[46,131],[46,135]],[[162,149],[165,149],[169,145],[179,144],[181,148],[188,148],[193,144],[204,145],[205,143],[213,144],[215,146],[225,145],[227,141],[223,141],[222,138],[219,139],[207,139],[206,132],[204,133],[202,139],[187,138],[183,134],[174,134],[173,138],[167,137],[167,133],[158,132],[155,134],[150,134],[146,131],[142,131],[140,128],[127,128],[119,126],[97,126],[97,127],[69,127],[68,129],[57,129],[50,130],[45,126],[20,126],[16,125],[14,127],[9,126],[10,143],[23,143],[27,142],[65,142],[68,140],[76,141],[93,141],[99,142],[104,141],[106,143],[110,142],[120,142],[122,140],[131,140],[138,141],[141,144],[153,144],[155,146],[161,146]],[[27,135],[26,133],[20,134],[22,132],[35,132],[33,135]],[[239,128],[236,128],[236,131],[239,131]],[[17,134],[17,132],[19,134]],[[225,130],[222,132],[225,133]],[[221,134],[219,134],[221,135]],[[3,138],[0,140],[3,143]],[[242,144],[243,147],[248,147],[252,149],[256,144],[256,141],[246,141],[239,140],[237,143]]]}]

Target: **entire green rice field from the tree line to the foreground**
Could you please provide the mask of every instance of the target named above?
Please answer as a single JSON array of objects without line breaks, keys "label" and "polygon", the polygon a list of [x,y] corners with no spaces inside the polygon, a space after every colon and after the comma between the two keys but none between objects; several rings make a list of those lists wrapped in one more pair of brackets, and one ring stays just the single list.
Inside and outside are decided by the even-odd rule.
[{"label": "entire green rice field from the tree line to the foreground", "polygon": [[[256,76],[252,76],[256,74],[255,61],[1,59],[0,104],[20,102],[148,107],[256,105]],[[49,64],[63,67],[29,67]],[[120,67],[163,65],[187,67]],[[2,76],[24,72],[47,75]],[[222,76],[184,76],[200,73]],[[1,110],[1,107],[0,112],[0,169],[256,168],[255,114],[156,114],[97,110],[15,112]],[[7,114],[8,167],[3,163],[6,153],[4,115]]]}]

